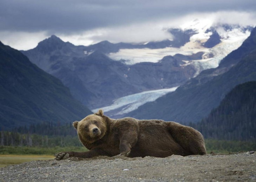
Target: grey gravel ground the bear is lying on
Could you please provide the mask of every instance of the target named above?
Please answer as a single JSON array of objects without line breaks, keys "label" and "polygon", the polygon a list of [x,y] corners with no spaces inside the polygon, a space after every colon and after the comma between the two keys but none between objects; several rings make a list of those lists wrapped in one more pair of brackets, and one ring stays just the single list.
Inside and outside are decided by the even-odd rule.
[{"label": "grey gravel ground the bear is lying on", "polygon": [[167,158],[99,156],[31,161],[0,169],[0,181],[167,182],[256,181],[256,154],[208,154]]}]

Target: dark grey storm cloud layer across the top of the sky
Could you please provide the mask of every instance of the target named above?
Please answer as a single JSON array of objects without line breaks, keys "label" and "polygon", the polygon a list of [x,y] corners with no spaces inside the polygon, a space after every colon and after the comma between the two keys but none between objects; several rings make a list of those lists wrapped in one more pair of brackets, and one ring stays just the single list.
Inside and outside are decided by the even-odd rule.
[{"label": "dark grey storm cloud layer across the top of the sky", "polygon": [[1,0],[0,31],[74,32],[192,12],[255,12],[255,0]]}]

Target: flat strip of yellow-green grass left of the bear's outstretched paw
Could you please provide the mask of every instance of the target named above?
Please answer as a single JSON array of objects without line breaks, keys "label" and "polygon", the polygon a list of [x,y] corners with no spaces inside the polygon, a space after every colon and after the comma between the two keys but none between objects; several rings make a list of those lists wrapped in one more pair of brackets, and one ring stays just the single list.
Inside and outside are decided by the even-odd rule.
[{"label": "flat strip of yellow-green grass left of the bear's outstretched paw", "polygon": [[34,160],[54,159],[52,155],[0,155],[0,168]]}]

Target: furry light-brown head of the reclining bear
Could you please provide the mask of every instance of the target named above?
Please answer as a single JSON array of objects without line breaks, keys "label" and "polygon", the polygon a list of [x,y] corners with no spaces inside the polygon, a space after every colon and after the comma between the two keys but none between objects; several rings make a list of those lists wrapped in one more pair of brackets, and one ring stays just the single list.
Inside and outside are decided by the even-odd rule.
[{"label": "furry light-brown head of the reclining bear", "polygon": [[107,125],[102,116],[103,111],[99,110],[95,114],[91,114],[83,118],[81,121],[75,121],[73,123],[83,145],[93,143],[105,135]]}]

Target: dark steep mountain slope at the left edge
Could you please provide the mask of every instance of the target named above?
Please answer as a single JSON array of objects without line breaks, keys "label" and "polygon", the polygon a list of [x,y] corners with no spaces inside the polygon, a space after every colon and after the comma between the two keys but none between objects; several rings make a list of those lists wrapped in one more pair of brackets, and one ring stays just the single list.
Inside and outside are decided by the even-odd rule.
[{"label": "dark steep mountain slope at the left edge", "polygon": [[92,113],[73,99],[60,80],[1,42],[0,60],[1,129],[40,122],[72,122]]}]

